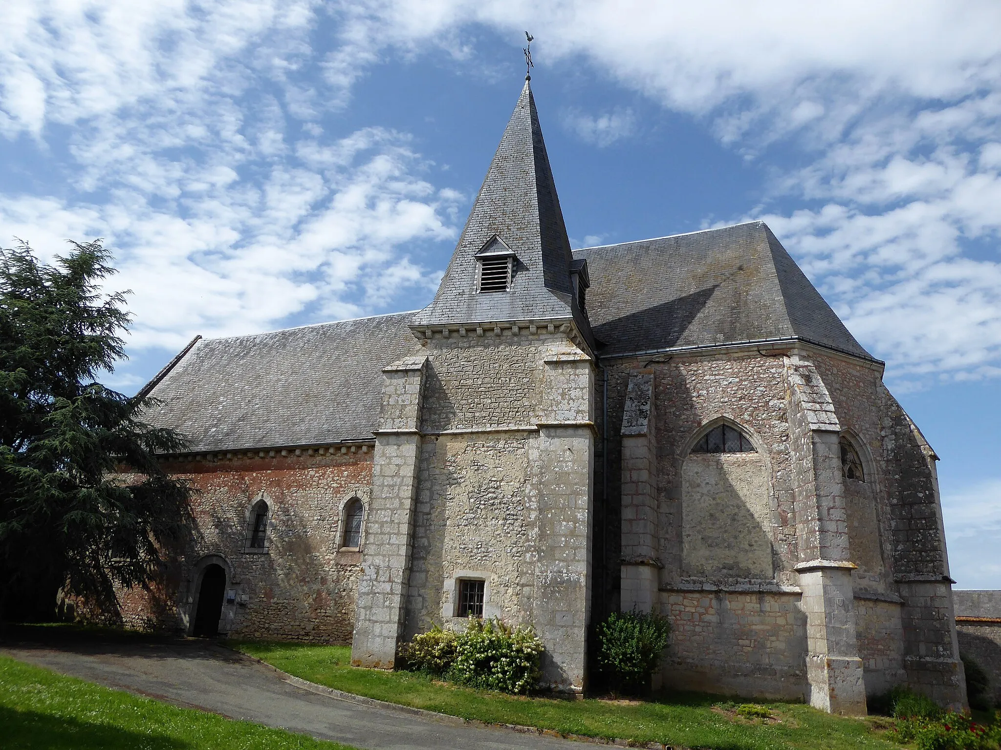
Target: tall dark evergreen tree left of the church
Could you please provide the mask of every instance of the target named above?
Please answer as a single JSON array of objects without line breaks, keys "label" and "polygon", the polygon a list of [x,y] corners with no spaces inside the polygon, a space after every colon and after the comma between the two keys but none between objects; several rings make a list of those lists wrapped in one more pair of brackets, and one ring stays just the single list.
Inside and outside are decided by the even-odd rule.
[{"label": "tall dark evergreen tree left of the church", "polygon": [[[149,586],[190,518],[189,489],[155,454],[151,401],[97,382],[124,356],[122,294],[100,241],[54,265],[0,250],[0,617],[51,619],[56,593],[113,611],[115,584]],[[128,467],[128,480],[119,474]]]}]

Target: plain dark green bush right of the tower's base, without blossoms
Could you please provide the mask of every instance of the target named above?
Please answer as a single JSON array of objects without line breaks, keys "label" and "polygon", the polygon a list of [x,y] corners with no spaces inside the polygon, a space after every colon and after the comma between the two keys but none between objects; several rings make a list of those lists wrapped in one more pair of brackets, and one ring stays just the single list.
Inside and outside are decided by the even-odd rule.
[{"label": "plain dark green bush right of the tower's base, without blossoms", "polygon": [[598,664],[614,692],[646,692],[671,623],[656,612],[613,612],[598,626]]}]

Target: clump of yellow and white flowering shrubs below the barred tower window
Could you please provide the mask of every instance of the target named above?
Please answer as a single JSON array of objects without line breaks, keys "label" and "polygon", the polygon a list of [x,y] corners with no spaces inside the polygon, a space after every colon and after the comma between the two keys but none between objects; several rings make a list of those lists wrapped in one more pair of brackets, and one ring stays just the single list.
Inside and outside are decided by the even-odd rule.
[{"label": "clump of yellow and white flowering shrubs below the barred tower window", "polygon": [[436,625],[402,650],[406,668],[484,690],[527,693],[539,683],[545,647],[530,628],[470,617],[465,631]]}]

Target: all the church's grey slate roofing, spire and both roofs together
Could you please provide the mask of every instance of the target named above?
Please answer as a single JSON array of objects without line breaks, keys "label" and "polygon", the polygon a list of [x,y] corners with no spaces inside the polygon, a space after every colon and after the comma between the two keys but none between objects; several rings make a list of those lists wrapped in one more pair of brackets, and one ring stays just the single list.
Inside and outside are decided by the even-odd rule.
[{"label": "all the church's grey slate roofing, spire and both roofs together", "polygon": [[[479,294],[475,254],[494,235],[518,270],[511,292]],[[586,310],[572,270],[590,276]],[[420,351],[410,326],[571,316],[600,358],[803,339],[873,359],[762,222],[572,253],[526,82],[427,307],[196,340],[147,386],[163,403],[146,419],[195,452],[370,438],[382,368]]]}]

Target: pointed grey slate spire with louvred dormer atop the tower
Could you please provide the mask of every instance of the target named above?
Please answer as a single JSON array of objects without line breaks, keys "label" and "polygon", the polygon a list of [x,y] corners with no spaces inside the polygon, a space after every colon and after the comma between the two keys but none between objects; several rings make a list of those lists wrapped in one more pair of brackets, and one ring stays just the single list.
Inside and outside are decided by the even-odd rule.
[{"label": "pointed grey slate spire with louvred dormer atop the tower", "polygon": [[526,80],[437,294],[412,325],[573,318],[587,328],[572,267],[578,270]]}]

